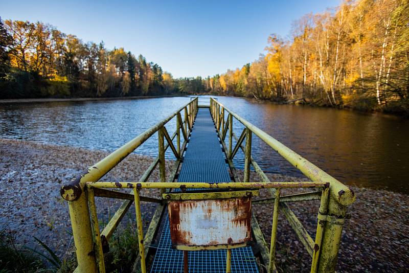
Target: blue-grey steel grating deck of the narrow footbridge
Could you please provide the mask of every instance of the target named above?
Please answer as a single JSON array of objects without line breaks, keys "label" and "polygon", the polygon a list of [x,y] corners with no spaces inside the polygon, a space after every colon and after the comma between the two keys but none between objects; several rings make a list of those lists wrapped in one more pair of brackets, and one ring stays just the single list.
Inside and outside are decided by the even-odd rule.
[{"label": "blue-grey steel grating deck of the narrow footbridge", "polygon": [[[228,165],[209,108],[199,108],[180,169],[179,182],[228,183]],[[183,251],[172,249],[169,218],[152,263],[151,272],[183,272]],[[226,250],[188,252],[189,272],[225,272]],[[232,249],[232,272],[258,272],[251,246]]]}]

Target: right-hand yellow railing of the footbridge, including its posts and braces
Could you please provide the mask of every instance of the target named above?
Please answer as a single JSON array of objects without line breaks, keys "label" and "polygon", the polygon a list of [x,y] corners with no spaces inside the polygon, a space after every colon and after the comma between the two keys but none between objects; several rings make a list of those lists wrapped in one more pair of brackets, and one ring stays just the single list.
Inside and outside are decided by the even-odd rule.
[{"label": "right-hand yellow railing of the footbridge, including its posts and braces", "polygon": [[[296,231],[299,239],[304,244],[308,253],[312,257],[311,272],[334,272],[342,229],[346,218],[346,207],[351,205],[355,201],[354,192],[344,184],[340,183],[340,181],[336,180],[334,177],[330,176],[320,168],[307,161],[301,155],[297,154],[276,139],[272,138],[266,132],[260,130],[253,124],[241,118],[229,108],[226,108],[217,100],[213,98],[211,98],[210,100],[210,111],[212,113],[212,117],[217,128],[222,146],[226,151],[226,154],[228,154],[229,165],[233,171],[235,170],[233,164],[233,158],[235,154],[237,153],[238,149],[242,149],[244,152],[244,183],[247,183],[249,181],[250,165],[253,165],[255,172],[259,175],[260,179],[264,183],[270,182],[265,173],[261,170],[260,166],[256,161],[254,161],[253,157],[251,156],[252,134],[255,134],[273,150],[284,157],[285,160],[299,169],[309,179],[311,179],[312,181],[325,181],[330,185],[329,198],[323,199],[323,196],[321,196],[321,206],[318,214],[315,242],[312,240],[311,236],[307,233],[301,222],[292,213],[285,202],[320,199],[320,196],[316,192],[280,197],[280,190],[277,190],[275,192],[272,192],[272,195],[274,195],[274,197],[253,202],[253,204],[274,202],[275,214],[273,216],[273,228],[271,233],[269,259],[270,270],[274,266],[274,264],[272,263],[272,256],[274,256],[274,243],[277,232],[278,213],[276,212],[278,212],[277,208],[280,207],[281,211],[284,213],[290,225],[292,226],[294,231]],[[227,119],[225,119],[225,112],[228,113]],[[244,125],[244,130],[242,131],[239,138],[237,138],[237,136],[233,132],[233,118]],[[229,147],[226,147],[224,140],[228,131]],[[236,145],[234,148],[233,139],[236,141]],[[244,139],[246,140],[245,147],[242,146]],[[237,173],[234,173],[234,176],[236,181],[240,181]]]}]

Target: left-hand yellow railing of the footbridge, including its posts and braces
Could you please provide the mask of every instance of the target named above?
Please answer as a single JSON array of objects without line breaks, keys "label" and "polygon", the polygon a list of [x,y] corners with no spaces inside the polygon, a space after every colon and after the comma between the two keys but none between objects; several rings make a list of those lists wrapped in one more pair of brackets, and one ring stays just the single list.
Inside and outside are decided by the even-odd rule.
[{"label": "left-hand yellow railing of the footbridge, including its posts and braces", "polygon": [[[130,194],[121,192],[113,192],[101,189],[99,191],[88,193],[85,187],[86,183],[89,181],[98,181],[101,177],[108,173],[112,168],[117,166],[122,160],[124,160],[124,158],[126,158],[126,156],[128,156],[131,152],[133,152],[135,149],[141,146],[147,139],[149,139],[156,132],[158,133],[158,156],[155,158],[153,163],[142,175],[142,177],[140,178],[140,182],[146,182],[157,165],[159,166],[160,171],[160,181],[166,182],[165,151],[168,147],[171,147],[173,153],[176,156],[176,162],[171,173],[172,177],[171,179],[173,179],[180,164],[181,153],[183,153],[183,150],[186,147],[186,144],[188,142],[188,136],[193,126],[195,115],[198,109],[197,101],[198,101],[197,98],[191,100],[189,103],[187,103],[186,105],[172,113],[172,115],[170,115],[168,118],[162,120],[161,122],[158,122],[156,125],[147,129],[138,137],[134,138],[121,148],[117,149],[116,151],[112,152],[111,154],[103,158],[103,160],[96,163],[94,166],[89,167],[85,173],[78,175],[76,178],[73,178],[70,184],[64,185],[61,188],[60,190],[61,196],[65,200],[69,201],[68,203],[70,218],[73,229],[76,256],[78,261],[78,267],[76,268],[76,271],[97,272],[97,269],[99,269],[100,271],[104,270],[102,269],[101,266],[97,266],[97,261],[99,265],[103,263],[103,256],[101,256],[99,252],[94,250],[95,248],[94,246],[101,244],[103,245],[107,243],[110,236],[115,231],[116,227],[118,226],[119,222],[129,209],[133,201],[133,195],[129,196]],[[184,120],[182,119],[183,113]],[[170,137],[165,125],[175,117],[176,131]],[[180,134],[182,134],[185,139],[182,145],[180,145]],[[175,137],[177,143],[176,147],[174,147],[172,143]],[[165,139],[168,142],[166,146]],[[91,197],[92,195],[95,195],[125,199],[121,207],[118,209],[115,215],[113,215],[109,223],[105,226],[105,229],[101,232],[101,236],[98,238],[96,236],[93,236],[93,233],[96,234],[99,233],[97,224],[94,223],[93,224],[94,228],[92,228],[92,223],[89,215],[89,211],[91,212],[94,211],[95,203],[93,201],[90,201],[88,203],[87,198],[88,194]],[[160,199],[142,196],[140,200],[162,203]],[[160,218],[161,214],[163,213],[163,208],[164,206],[162,204],[157,208],[153,216],[154,220],[156,219],[157,221],[158,218]],[[93,219],[95,219],[94,216],[95,215],[92,215]],[[152,230],[157,228],[155,224],[157,225],[157,222],[149,226],[148,229],[148,231],[150,232],[149,238],[153,237]]]}]

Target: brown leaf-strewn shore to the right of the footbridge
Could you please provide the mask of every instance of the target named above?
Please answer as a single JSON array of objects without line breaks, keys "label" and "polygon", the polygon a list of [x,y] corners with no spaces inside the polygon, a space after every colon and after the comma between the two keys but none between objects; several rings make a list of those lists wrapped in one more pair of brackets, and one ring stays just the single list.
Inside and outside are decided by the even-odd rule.
[{"label": "brown leaf-strewn shore to the right of the footbridge", "polygon": [[[267,174],[271,181],[308,181]],[[252,179],[257,181],[253,174]],[[356,201],[347,210],[337,272],[407,272],[409,268],[409,196],[351,187]],[[302,192],[284,189],[282,195]],[[304,190],[305,191],[305,190]],[[261,190],[260,196],[268,196]],[[320,201],[288,203],[310,236],[315,238]],[[260,208],[261,207],[261,208]],[[269,242],[273,204],[254,205],[265,240]],[[283,215],[279,214],[276,258],[284,272],[309,272],[311,258]]]}]

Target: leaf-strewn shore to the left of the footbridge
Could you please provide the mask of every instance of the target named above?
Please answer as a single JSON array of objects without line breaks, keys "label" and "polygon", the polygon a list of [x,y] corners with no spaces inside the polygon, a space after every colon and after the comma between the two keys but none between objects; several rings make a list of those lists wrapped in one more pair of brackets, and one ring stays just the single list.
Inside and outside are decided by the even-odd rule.
[{"label": "leaf-strewn shore to the left of the footbridge", "polygon": [[[62,256],[69,250],[72,238],[67,202],[59,190],[71,178],[108,154],[98,150],[0,139],[0,227],[7,227],[18,236],[19,243],[30,247],[36,245],[33,239],[36,236]],[[152,162],[151,157],[131,154],[101,180],[138,180]],[[157,180],[159,175],[154,171],[150,181]],[[158,190],[144,191],[145,195],[159,195]],[[108,222],[121,203],[120,200],[97,198],[100,219]],[[144,224],[149,223],[154,206],[143,203],[143,211],[146,212]],[[129,212],[134,213],[134,208],[130,208]]]}]

